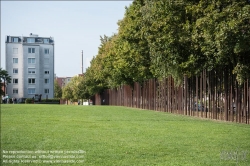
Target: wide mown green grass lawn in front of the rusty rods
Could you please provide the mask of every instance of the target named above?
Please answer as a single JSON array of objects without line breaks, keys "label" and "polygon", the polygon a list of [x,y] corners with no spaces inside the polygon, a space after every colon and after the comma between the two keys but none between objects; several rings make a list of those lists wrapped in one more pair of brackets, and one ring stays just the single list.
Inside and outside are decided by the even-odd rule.
[{"label": "wide mown green grass lawn in front of the rusty rods", "polygon": [[[35,154],[39,150],[45,152]],[[30,151],[35,158],[11,151]],[[61,155],[58,160],[68,161],[66,151],[81,153],[73,154],[72,164],[40,158]],[[2,165],[250,165],[250,126],[115,106],[3,104],[3,160]]]}]

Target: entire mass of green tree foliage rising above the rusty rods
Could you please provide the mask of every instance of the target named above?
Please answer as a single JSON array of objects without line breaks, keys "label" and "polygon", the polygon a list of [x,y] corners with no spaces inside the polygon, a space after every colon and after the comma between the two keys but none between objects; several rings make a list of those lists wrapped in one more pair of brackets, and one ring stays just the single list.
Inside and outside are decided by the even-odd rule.
[{"label": "entire mass of green tree foliage rising above the rusty rods", "polygon": [[230,69],[239,84],[250,78],[250,4],[246,0],[135,0],[118,33],[101,37],[86,71],[88,95],[169,75]]}]

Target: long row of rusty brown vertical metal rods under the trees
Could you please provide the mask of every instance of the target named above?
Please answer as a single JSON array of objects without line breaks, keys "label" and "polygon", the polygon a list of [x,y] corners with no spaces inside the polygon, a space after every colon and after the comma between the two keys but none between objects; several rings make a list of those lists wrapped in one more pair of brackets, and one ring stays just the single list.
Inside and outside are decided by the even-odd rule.
[{"label": "long row of rusty brown vertical metal rods under the trees", "polygon": [[[228,74],[229,73],[229,74]],[[92,98],[95,105],[116,105],[201,118],[250,124],[250,81],[239,85],[225,71],[185,76],[176,86],[172,77],[107,89]]]}]

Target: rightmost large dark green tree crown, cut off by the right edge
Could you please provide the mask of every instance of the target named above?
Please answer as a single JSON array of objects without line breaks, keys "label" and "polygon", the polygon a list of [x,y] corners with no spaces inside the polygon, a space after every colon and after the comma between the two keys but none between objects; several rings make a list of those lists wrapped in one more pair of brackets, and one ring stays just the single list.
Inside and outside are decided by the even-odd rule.
[{"label": "rightmost large dark green tree crown, cut off by the right edge", "polygon": [[193,41],[206,61],[208,70],[232,68],[241,84],[250,78],[250,5],[245,0],[202,0],[192,6],[197,20]]}]

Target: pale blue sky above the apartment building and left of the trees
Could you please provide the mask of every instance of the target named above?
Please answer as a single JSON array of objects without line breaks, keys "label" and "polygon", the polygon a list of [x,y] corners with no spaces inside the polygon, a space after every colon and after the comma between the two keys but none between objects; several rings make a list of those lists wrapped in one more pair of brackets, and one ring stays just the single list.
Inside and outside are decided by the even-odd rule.
[{"label": "pale blue sky above the apartment building and left of the trees", "polygon": [[1,1],[1,67],[5,69],[5,37],[53,37],[55,74],[84,72],[98,54],[100,36],[118,32],[117,22],[132,1]]}]

